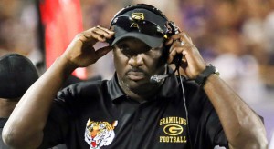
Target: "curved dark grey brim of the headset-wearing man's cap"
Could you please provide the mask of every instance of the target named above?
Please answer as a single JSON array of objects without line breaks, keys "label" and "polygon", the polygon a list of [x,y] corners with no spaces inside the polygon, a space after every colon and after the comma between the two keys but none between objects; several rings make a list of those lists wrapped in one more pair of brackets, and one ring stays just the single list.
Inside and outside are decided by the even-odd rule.
[{"label": "curved dark grey brim of the headset-wearing man's cap", "polygon": [[141,40],[143,43],[146,45],[149,45],[150,47],[159,47],[160,45],[163,44],[163,37],[156,37],[152,35],[145,35],[139,32],[126,32],[120,27],[116,26],[116,31],[119,30],[118,32],[115,32],[115,39],[113,40],[111,45],[115,45],[117,42],[119,42],[121,39],[127,38],[127,37],[133,37]]}]

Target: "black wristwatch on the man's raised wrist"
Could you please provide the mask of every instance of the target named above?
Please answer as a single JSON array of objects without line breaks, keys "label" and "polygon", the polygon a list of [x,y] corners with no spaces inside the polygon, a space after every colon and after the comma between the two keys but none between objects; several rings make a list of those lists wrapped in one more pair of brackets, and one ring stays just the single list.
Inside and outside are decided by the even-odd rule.
[{"label": "black wristwatch on the man's raised wrist", "polygon": [[201,74],[197,75],[195,78],[195,83],[204,85],[209,75],[212,74],[219,75],[219,72],[214,65],[209,64],[205,67],[205,70]]}]

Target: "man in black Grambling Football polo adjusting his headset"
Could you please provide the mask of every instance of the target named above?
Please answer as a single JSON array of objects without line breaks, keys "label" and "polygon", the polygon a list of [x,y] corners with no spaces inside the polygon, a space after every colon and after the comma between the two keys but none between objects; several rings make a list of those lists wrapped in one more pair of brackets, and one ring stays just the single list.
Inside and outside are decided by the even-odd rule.
[{"label": "man in black Grambling Football polo adjusting his headset", "polygon": [[[95,50],[97,42],[110,46]],[[111,49],[116,68],[111,80],[73,84],[58,93],[73,70],[94,64]],[[178,55],[183,56],[174,62]],[[185,77],[174,75],[167,65],[173,62]],[[268,144],[258,115],[213,65],[205,65],[190,37],[151,5],[128,6],[114,16],[111,29],[96,26],[76,35],[26,91],[3,137],[14,148],[65,143],[91,149],[250,149]]]}]

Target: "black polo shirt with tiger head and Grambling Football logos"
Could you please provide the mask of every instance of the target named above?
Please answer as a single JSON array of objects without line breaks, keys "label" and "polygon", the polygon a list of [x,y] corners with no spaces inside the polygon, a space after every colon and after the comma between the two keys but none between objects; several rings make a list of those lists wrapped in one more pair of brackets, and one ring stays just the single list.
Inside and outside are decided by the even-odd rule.
[{"label": "black polo shirt with tiger head and Grambling Football logos", "polygon": [[[184,80],[183,91],[173,75],[157,96],[138,103],[121,91],[116,75],[109,81],[73,84],[52,104],[41,148],[161,149],[227,146],[227,138],[206,97]],[[228,146],[227,146],[228,148]]]}]

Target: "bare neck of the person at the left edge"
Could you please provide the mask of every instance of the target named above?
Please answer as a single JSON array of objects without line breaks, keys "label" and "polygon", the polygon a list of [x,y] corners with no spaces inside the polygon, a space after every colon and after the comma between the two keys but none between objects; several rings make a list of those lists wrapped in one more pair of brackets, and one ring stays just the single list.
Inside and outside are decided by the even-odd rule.
[{"label": "bare neck of the person at the left edge", "polygon": [[0,98],[0,117],[8,118],[16,107],[17,100]]}]

